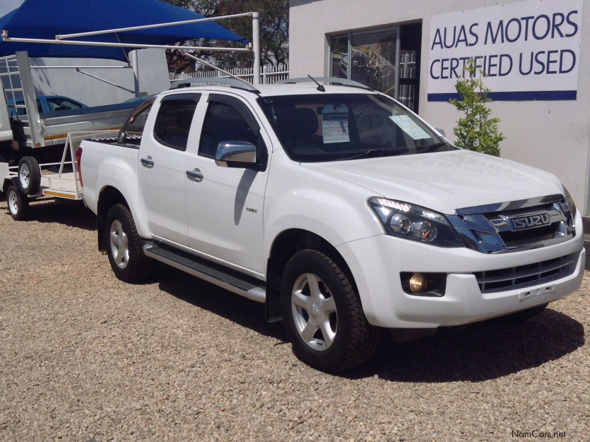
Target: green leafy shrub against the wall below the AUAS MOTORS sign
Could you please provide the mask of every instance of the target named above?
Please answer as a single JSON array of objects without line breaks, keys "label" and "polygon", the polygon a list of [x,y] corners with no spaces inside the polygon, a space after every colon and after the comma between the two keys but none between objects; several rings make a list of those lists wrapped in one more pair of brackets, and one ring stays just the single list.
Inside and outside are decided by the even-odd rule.
[{"label": "green leafy shrub against the wall below the AUAS MOTORS sign", "polygon": [[500,156],[500,141],[505,137],[498,130],[499,118],[490,118],[491,109],[486,103],[490,89],[484,86],[483,71],[477,69],[473,59],[463,68],[463,75],[455,89],[460,99],[450,100],[464,117],[457,121],[453,132],[457,137],[457,146],[461,149],[474,150],[493,156]]}]

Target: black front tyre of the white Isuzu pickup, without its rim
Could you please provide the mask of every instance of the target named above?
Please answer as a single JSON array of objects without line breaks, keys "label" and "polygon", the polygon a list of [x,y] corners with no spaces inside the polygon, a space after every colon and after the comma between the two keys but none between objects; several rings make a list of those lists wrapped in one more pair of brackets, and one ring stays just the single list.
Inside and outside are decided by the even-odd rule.
[{"label": "black front tyre of the white Isuzu pickup, without its rim", "polygon": [[[313,349],[304,341],[293,316],[294,285],[306,273],[321,279],[336,305],[335,338],[323,351]],[[378,345],[380,329],[367,321],[349,276],[329,256],[317,250],[301,250],[287,263],[281,281],[281,309],[294,354],[317,370],[339,372],[358,367],[372,357]]]}]

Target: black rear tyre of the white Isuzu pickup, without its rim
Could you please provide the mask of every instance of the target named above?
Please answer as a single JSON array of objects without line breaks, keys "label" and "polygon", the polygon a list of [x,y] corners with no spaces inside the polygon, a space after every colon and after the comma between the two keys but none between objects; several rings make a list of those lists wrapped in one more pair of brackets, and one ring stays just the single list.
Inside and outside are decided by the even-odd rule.
[{"label": "black rear tyre of the white Isuzu pickup, without its rim", "polygon": [[[116,252],[112,245],[111,231],[115,222],[120,223],[127,238],[128,258],[124,260],[123,268],[117,264],[117,255],[115,255]],[[104,223],[104,244],[107,246],[109,263],[118,279],[129,283],[139,283],[148,278],[152,268],[152,260],[143,253],[142,240],[137,233],[133,216],[123,204],[114,205],[107,214]]]}]

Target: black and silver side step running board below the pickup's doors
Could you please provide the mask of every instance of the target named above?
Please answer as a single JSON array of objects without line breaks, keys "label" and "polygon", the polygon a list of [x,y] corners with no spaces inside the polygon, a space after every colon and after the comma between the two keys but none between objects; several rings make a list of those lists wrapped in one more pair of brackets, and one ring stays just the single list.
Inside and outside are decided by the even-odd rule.
[{"label": "black and silver side step running board below the pickup's doors", "polygon": [[[220,269],[221,266],[213,263],[209,265],[199,258],[192,259],[186,253],[177,253],[175,250],[162,248],[154,243],[144,245],[143,253],[150,258],[253,301],[264,302],[266,299],[266,289],[255,284],[254,281],[248,281],[248,279],[252,279],[248,278],[248,276],[244,275],[244,279],[241,279],[236,275],[237,272],[224,272]],[[262,284],[262,281],[260,283]]]}]

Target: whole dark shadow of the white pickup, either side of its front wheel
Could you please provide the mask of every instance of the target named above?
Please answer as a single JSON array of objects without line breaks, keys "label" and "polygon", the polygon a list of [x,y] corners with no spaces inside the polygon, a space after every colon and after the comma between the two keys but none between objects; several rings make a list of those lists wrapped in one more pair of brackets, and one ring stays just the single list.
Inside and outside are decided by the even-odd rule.
[{"label": "whole dark shadow of the white pickup, either side of its front wheel", "polygon": [[[163,266],[160,289],[261,335],[287,343],[281,322],[264,321],[264,305]],[[377,375],[395,382],[479,382],[559,359],[584,345],[584,326],[550,308],[520,325],[486,321],[396,344],[385,332],[375,358],[340,377]]]}]

